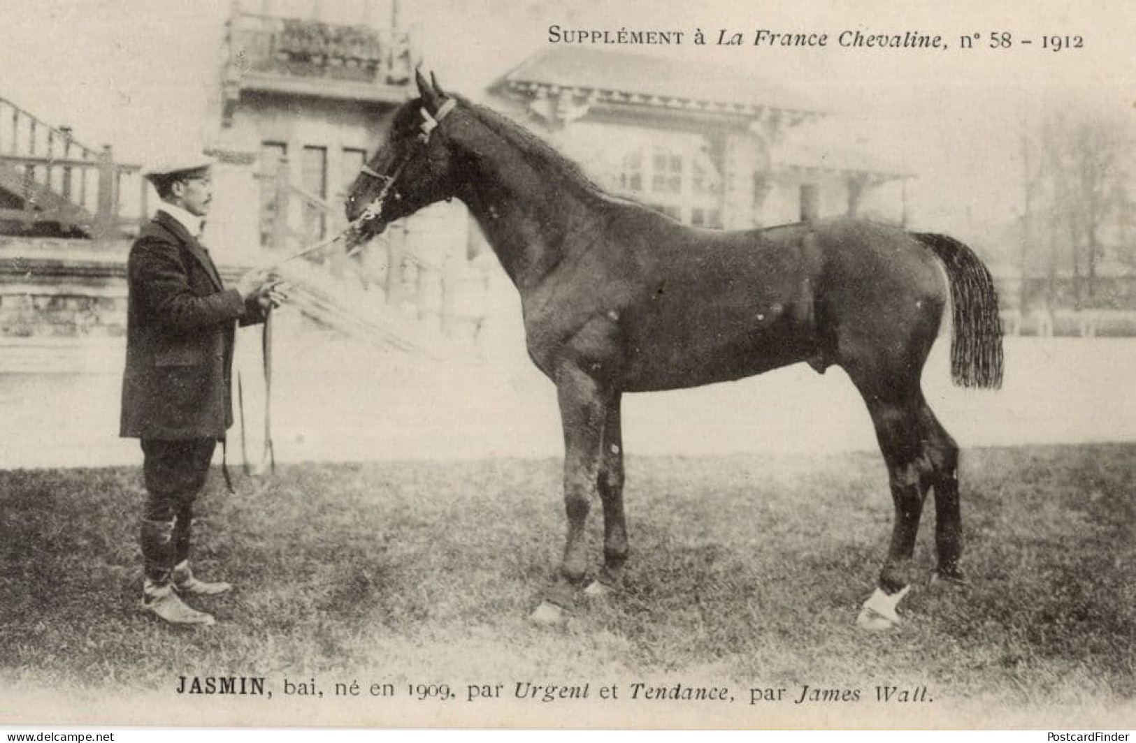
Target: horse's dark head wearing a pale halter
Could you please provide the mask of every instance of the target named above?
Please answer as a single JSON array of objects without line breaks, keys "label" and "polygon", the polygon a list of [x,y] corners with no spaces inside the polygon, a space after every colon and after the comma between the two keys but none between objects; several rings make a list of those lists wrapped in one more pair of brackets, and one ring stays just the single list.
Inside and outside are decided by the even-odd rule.
[{"label": "horse's dark head wearing a pale halter", "polygon": [[382,233],[392,221],[454,195],[453,155],[438,128],[457,101],[415,73],[419,96],[394,115],[386,141],[367,162],[346,199],[348,219],[360,237]]}]

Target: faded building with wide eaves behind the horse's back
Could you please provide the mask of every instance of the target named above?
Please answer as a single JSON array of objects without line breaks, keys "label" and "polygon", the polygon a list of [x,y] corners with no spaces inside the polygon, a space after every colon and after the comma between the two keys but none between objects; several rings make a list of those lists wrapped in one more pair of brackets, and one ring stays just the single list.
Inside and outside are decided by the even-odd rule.
[{"label": "faded building with wide eaves behind the horse's back", "polygon": [[834,142],[824,111],[752,75],[557,47],[490,90],[598,183],[688,225],[741,229],[845,213],[904,220],[910,175]]}]

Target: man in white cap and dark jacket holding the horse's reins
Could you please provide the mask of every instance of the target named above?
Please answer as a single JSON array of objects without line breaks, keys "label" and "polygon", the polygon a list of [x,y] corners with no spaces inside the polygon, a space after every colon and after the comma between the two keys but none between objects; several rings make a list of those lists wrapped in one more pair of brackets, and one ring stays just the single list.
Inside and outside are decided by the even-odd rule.
[{"label": "man in white cap and dark jacket holding the horse's reins", "polygon": [[142,605],[175,624],[212,624],[185,596],[224,593],[190,568],[193,501],[217,441],[233,424],[235,324],[262,322],[283,296],[262,271],[226,289],[198,242],[212,202],[204,158],[147,172],[161,197],[126,264],[126,371],[120,436],[139,438],[147,503],[142,518]]}]

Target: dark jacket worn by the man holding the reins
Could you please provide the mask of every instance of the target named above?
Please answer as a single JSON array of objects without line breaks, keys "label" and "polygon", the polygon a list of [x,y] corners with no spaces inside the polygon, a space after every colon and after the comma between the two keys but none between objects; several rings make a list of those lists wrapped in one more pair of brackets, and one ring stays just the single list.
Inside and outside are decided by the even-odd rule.
[{"label": "dark jacket worn by the man holding the reins", "polygon": [[233,424],[235,323],[261,322],[259,306],[225,289],[209,253],[165,212],[142,228],[126,277],[119,436],[224,438]]}]

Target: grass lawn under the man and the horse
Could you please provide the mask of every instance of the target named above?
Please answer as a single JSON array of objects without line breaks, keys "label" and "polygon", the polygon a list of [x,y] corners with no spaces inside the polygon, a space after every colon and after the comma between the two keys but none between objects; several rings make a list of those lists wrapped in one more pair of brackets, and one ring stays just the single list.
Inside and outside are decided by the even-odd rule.
[{"label": "grass lawn under the man and the horse", "polygon": [[[886,634],[853,625],[892,518],[871,454],[630,457],[625,591],[561,630],[526,620],[562,547],[558,459],[296,464],[236,497],[215,476],[197,563],[237,590],[198,601],[219,620],[206,630],[137,609],[135,468],[0,472],[0,723],[1133,727],[1136,446],[963,456],[971,585],[918,584]],[[933,524],[929,508],[928,573]],[[174,693],[220,675],[274,696]],[[285,678],[325,698],[285,696]],[[334,695],[356,679],[362,698]],[[587,682],[590,699],[519,702],[518,681]],[[632,701],[635,681],[735,701]],[[398,696],[368,698],[371,682]],[[616,682],[620,702],[599,702]],[[408,695],[419,683],[456,699]],[[501,700],[466,701],[496,683]],[[860,699],[794,704],[802,684]],[[877,685],[934,701],[879,703]],[[785,701],[750,704],[767,687]]]}]

